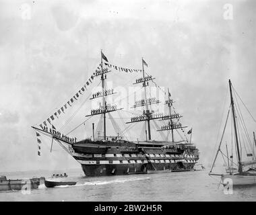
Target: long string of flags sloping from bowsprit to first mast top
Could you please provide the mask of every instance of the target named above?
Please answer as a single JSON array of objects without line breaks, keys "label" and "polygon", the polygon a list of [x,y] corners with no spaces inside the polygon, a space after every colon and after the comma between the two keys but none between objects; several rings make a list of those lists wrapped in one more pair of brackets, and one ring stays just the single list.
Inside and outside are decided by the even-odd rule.
[{"label": "long string of flags sloping from bowsprit to first mast top", "polygon": [[57,110],[54,114],[52,114],[51,116],[49,116],[49,118],[47,118],[46,120],[44,120],[44,122],[42,122],[42,124],[40,124],[40,127],[42,129],[44,129],[44,126],[47,126],[47,122],[49,124],[51,124],[51,122],[53,122],[53,120],[55,120],[56,118],[59,118],[59,115],[61,114],[65,114],[65,110],[67,109],[67,107],[71,107],[72,103],[74,101],[76,101],[77,99],[79,99],[79,96],[82,95],[85,91],[87,91],[87,87],[92,83],[92,81],[94,80],[94,75],[96,75],[97,73],[100,72],[100,66],[101,64],[98,66],[98,68],[96,69],[95,73],[93,73],[93,75],[90,76],[90,78],[88,79],[88,81],[86,81],[86,83],[84,84],[84,86],[79,89],[79,91],[77,93],[75,93],[75,95],[73,95],[73,97],[71,97],[71,99],[69,99],[69,101],[67,101],[61,108],[59,108],[59,110]]}]

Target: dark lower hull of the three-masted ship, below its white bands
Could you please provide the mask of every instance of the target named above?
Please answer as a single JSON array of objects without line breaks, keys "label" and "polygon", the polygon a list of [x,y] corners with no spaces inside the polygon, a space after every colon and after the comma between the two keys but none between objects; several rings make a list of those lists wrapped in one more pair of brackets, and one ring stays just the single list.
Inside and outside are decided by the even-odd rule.
[{"label": "dark lower hull of the three-masted ship, below its white bands", "polygon": [[86,176],[110,176],[110,175],[130,175],[130,174],[142,174],[142,173],[154,173],[154,171],[191,171],[194,164],[190,163],[185,168],[179,169],[176,163],[158,163],[154,164],[154,169],[150,164],[113,164],[113,165],[82,165],[82,169]]}]

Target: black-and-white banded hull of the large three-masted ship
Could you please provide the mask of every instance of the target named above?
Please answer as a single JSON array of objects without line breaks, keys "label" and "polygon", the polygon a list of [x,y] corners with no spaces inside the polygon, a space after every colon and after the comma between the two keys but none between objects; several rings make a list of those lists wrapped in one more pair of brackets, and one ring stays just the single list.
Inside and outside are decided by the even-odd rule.
[{"label": "black-and-white banded hull of the large three-masted ship", "polygon": [[[166,143],[164,143],[166,144]],[[81,142],[71,148],[73,158],[82,165],[86,176],[128,175],[156,171],[190,171],[199,159],[196,148],[163,143]],[[198,152],[198,151],[197,151]]]}]

